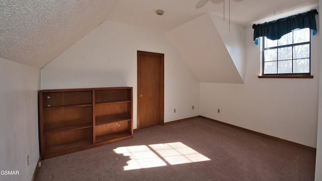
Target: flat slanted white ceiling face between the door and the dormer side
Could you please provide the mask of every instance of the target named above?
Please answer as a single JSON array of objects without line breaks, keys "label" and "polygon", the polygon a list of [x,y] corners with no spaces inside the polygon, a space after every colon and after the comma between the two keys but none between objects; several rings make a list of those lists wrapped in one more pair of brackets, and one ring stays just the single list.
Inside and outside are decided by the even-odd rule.
[{"label": "flat slanted white ceiling face between the door and the dormer side", "polygon": [[[239,73],[244,69],[241,68],[238,71],[236,68],[222,39],[223,36],[220,36],[211,16],[213,15],[200,16],[169,31],[167,36],[200,82],[244,83],[244,76]],[[227,28],[226,32],[229,31],[228,26],[217,25],[217,27],[220,26]],[[231,28],[235,29],[235,27]],[[235,40],[232,40],[233,43]],[[237,49],[243,49],[243,45],[244,41],[242,40]],[[245,56],[241,55],[240,59],[236,61],[244,60]]]}]

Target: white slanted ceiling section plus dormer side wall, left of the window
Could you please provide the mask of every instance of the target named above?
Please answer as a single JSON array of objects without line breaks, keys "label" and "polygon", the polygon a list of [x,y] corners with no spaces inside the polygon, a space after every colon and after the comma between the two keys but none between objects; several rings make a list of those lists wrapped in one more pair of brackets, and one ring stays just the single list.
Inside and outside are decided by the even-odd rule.
[{"label": "white slanted ceiling section plus dormer side wall, left of the window", "polygon": [[244,83],[244,27],[232,23],[228,30],[227,21],[208,13],[166,34],[199,81]]}]

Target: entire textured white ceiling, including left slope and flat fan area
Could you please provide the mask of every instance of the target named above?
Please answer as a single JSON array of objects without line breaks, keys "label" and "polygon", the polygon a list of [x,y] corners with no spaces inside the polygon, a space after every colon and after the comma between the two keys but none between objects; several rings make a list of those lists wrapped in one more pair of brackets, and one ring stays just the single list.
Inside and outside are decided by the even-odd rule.
[{"label": "entire textured white ceiling, including left slope and flat fan area", "polygon": [[[229,19],[229,1],[209,1],[204,7],[195,9],[198,2],[199,0],[1,0],[0,57],[42,68],[107,19],[162,32],[170,31],[208,12],[222,18],[224,15],[225,19]],[[250,26],[317,7],[318,0],[230,1],[230,21]],[[164,10],[165,14],[155,15],[158,9]]]}]

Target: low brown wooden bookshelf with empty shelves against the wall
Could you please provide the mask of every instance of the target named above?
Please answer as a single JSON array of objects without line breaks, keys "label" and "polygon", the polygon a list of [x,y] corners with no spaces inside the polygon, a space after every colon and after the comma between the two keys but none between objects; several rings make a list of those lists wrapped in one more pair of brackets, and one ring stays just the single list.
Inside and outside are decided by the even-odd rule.
[{"label": "low brown wooden bookshelf with empty shelves against the wall", "polygon": [[132,94],[132,87],[39,91],[41,159],[132,138]]}]

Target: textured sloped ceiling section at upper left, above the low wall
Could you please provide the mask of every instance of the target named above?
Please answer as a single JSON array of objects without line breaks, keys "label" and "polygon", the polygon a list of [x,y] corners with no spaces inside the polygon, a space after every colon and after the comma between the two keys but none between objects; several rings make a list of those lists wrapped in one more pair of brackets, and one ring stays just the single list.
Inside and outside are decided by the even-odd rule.
[{"label": "textured sloped ceiling section at upper left, above the low wall", "polygon": [[105,21],[117,3],[0,1],[0,57],[42,68]]}]

